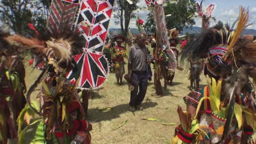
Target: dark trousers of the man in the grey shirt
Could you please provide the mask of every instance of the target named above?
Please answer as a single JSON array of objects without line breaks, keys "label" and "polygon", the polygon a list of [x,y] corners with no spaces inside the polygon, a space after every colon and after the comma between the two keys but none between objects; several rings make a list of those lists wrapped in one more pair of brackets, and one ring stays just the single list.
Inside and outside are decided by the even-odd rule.
[{"label": "dark trousers of the man in the grey shirt", "polygon": [[[131,83],[135,87],[131,91],[130,106],[140,105],[145,98],[148,88],[148,73],[147,71],[132,71]],[[139,92],[138,92],[139,90]]]}]

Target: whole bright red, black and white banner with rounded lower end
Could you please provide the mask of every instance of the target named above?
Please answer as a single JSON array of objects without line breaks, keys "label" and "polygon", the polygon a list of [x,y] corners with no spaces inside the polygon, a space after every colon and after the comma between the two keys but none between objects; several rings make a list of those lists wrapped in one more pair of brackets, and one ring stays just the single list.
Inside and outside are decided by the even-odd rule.
[{"label": "whole bright red, black and white banner with rounded lower end", "polygon": [[109,73],[109,62],[102,50],[108,31],[108,24],[113,10],[114,0],[84,0],[80,2],[77,31],[86,44],[84,53],[73,58],[77,71],[70,71],[66,76],[80,89],[95,89],[102,85]]}]

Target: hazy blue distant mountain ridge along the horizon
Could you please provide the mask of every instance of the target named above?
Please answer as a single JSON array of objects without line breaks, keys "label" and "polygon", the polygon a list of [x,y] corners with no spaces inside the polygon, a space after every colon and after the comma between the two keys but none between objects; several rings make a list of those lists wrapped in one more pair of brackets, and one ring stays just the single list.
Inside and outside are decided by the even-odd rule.
[{"label": "hazy blue distant mountain ridge along the horizon", "polygon": [[[121,34],[121,28],[109,28],[109,33],[113,33],[115,31],[118,32],[118,34]],[[137,28],[131,28],[131,31],[133,34],[138,34],[138,29]],[[189,34],[200,34],[201,33],[201,27],[193,27],[190,26],[188,28],[183,28],[183,31],[180,33],[181,35],[185,35],[186,33]],[[244,34],[253,34],[256,35],[256,30],[255,29],[245,29],[242,32],[242,35]]]}]

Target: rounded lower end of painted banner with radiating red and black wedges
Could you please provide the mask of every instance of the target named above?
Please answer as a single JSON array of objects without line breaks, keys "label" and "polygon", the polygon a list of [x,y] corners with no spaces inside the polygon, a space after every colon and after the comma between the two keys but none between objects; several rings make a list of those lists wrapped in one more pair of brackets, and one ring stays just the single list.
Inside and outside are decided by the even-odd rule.
[{"label": "rounded lower end of painted banner with radiating red and black wedges", "polygon": [[83,52],[73,58],[79,69],[69,71],[66,77],[71,83],[78,84],[78,88],[95,89],[107,79],[109,63],[101,53]]}]

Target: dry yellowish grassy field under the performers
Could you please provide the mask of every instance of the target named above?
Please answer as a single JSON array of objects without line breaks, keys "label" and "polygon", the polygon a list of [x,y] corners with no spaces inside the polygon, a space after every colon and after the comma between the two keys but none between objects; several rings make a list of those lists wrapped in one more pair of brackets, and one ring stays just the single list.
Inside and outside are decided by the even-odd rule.
[{"label": "dry yellowish grassy field under the performers", "polygon": [[[110,73],[107,81],[89,100],[88,121],[93,126],[92,143],[170,143],[177,125],[162,123],[179,124],[177,106],[180,105],[185,110],[183,97],[190,92],[187,69],[184,66],[183,71],[176,70],[173,86],[168,86],[161,97],[152,95],[155,92],[154,84],[149,82],[146,98],[142,103],[143,110],[136,112],[128,111],[130,91],[127,83],[117,85],[115,75]],[[28,66],[26,70],[26,83],[30,87],[40,71],[32,71]],[[201,79],[201,84],[205,85],[206,77],[201,76]],[[33,99],[37,93],[38,91],[32,94]],[[101,110],[107,107],[110,110]],[[145,121],[143,118],[159,118],[163,121]],[[117,129],[120,125],[123,126]]]}]

